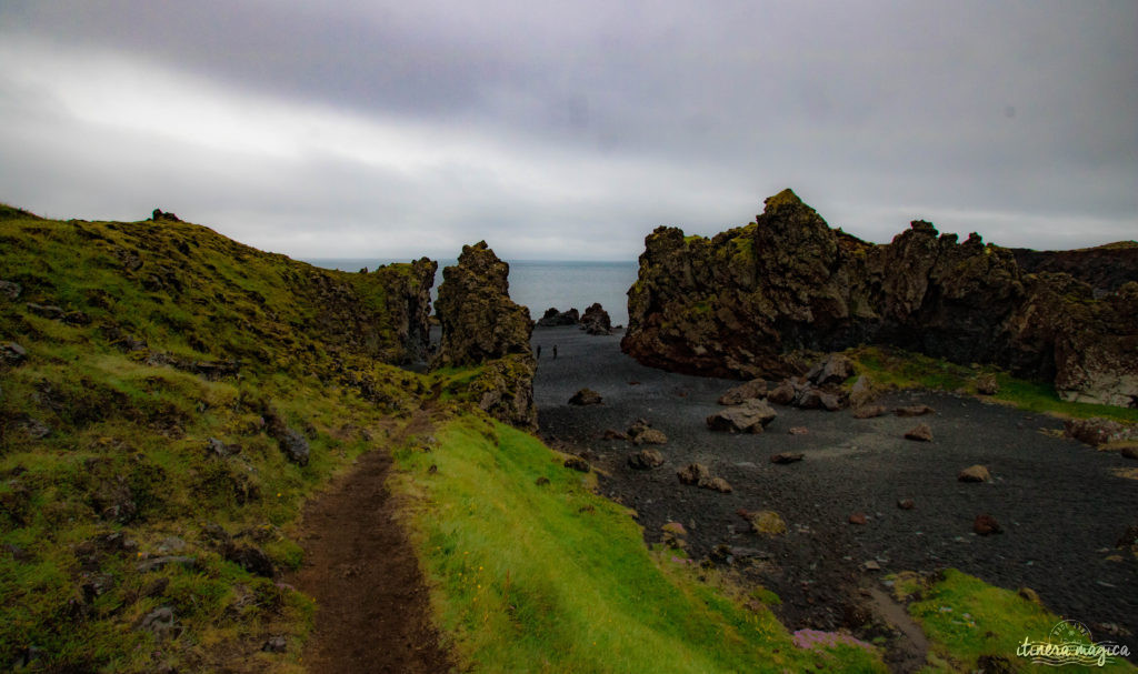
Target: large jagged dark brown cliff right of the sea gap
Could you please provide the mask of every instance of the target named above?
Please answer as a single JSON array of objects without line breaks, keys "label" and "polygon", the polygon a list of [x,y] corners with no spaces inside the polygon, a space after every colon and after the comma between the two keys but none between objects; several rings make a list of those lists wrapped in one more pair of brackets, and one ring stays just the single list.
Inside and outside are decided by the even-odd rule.
[{"label": "large jagged dark brown cliff right of the sea gap", "polygon": [[832,230],[790,190],[765,203],[712,239],[675,227],[645,239],[626,352],[752,377],[801,374],[801,350],[877,343],[1054,381],[1070,400],[1138,396],[1138,283],[1096,299],[1069,274],[1025,273],[976,234],[962,243],[916,220],[879,246]]}]

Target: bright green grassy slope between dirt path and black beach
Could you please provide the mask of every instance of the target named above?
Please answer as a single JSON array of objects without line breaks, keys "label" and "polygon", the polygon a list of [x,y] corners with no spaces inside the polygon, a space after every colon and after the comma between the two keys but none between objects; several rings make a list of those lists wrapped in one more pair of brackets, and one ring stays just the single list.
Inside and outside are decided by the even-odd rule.
[{"label": "bright green grassy slope between dirt path and black beach", "polygon": [[469,417],[435,436],[430,452],[396,452],[393,482],[412,505],[432,604],[464,666],[883,671],[861,649],[797,649],[766,608],[743,608],[686,560],[650,552],[627,509],[533,436]]}]

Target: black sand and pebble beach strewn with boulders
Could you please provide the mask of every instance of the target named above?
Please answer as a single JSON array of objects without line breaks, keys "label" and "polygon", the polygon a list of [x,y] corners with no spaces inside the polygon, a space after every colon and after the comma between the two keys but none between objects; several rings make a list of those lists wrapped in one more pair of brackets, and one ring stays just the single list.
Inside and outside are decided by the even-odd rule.
[{"label": "black sand and pebble beach strewn with boulders", "polygon": [[[1138,560],[1115,548],[1138,523],[1138,481],[1115,474],[1133,461],[1059,438],[1058,419],[932,392],[880,400],[890,409],[935,409],[921,418],[858,421],[848,410],[776,406],[780,416],[764,434],[712,433],[704,417],[721,409],[716,399],[737,382],[641,366],[619,342],[619,332],[534,331],[535,351],[543,348],[534,388],[541,434],[554,448],[587,456],[602,473],[601,491],[636,510],[649,542],[677,521],[694,558],[719,544],[750,550],[745,566],[780,594],[787,627],[841,626],[858,588],[880,586],[885,574],[956,567],[1001,588],[1031,588],[1096,638],[1138,650]],[[567,403],[585,386],[603,405]],[[666,459],[659,468],[629,468],[626,458],[640,448],[603,439],[607,428],[625,431],[637,418],[669,439],[652,447]],[[932,442],[902,438],[922,422]],[[793,426],[807,433],[792,435]],[[770,455],[783,451],[803,452],[805,460],[772,464]],[[676,471],[693,461],[726,479],[733,493],[681,484]],[[986,465],[992,480],[958,482],[973,464]],[[915,507],[900,509],[899,499]],[[775,510],[787,533],[752,533],[740,509]],[[850,524],[855,513],[864,513],[866,524]],[[974,534],[980,514],[995,516],[1003,533]],[[880,571],[867,571],[867,561]]]}]

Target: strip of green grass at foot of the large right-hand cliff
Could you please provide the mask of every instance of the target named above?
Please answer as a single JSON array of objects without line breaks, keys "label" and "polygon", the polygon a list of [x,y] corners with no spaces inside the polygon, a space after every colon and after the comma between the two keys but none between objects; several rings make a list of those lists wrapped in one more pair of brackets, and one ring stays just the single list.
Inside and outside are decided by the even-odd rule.
[{"label": "strip of green grass at foot of the large right-hand cliff", "polygon": [[1061,417],[1104,417],[1138,423],[1138,409],[1067,402],[1058,397],[1052,384],[1021,380],[991,366],[966,367],[884,347],[856,347],[844,353],[855,361],[858,374],[867,375],[879,389],[930,389],[975,393],[975,378],[990,373],[999,383],[999,392],[991,398],[1020,409]]}]

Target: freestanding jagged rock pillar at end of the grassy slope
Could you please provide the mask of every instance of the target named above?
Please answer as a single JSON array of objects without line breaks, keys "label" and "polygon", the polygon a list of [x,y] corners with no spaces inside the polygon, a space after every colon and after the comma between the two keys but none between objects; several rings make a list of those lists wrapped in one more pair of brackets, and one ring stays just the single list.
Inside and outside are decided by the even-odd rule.
[{"label": "freestanding jagged rock pillar at end of the grassy slope", "polygon": [[529,347],[529,310],[510,299],[510,266],[485,241],[463,246],[459,264],[443,269],[436,311],[443,327],[432,367],[483,366],[470,384],[477,405],[522,428],[537,427]]}]

